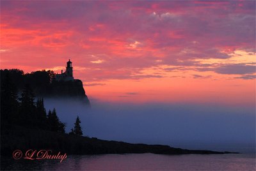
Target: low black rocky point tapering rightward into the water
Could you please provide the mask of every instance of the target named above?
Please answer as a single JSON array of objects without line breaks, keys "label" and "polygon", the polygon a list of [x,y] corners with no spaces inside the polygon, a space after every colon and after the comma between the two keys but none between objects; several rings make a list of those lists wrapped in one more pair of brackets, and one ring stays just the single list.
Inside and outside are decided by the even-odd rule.
[{"label": "low black rocky point tapering rightward into the water", "polygon": [[51,149],[67,154],[124,154],[147,153],[154,154],[226,154],[234,152],[218,152],[206,150],[188,150],[173,148],[168,145],[130,144],[125,142],[99,140],[97,138],[81,137],[55,133],[45,130],[31,130],[13,127],[1,130],[1,155],[11,156],[16,149]]}]

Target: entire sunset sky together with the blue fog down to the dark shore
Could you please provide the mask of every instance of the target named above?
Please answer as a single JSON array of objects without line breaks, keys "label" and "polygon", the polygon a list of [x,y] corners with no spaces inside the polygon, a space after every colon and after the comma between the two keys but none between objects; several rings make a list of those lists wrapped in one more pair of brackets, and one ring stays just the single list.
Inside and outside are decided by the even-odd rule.
[{"label": "entire sunset sky together with the blue fog down to the dark shore", "polygon": [[70,59],[92,108],[45,99],[67,132],[79,115],[89,137],[252,152],[255,3],[0,1],[1,69]]}]

